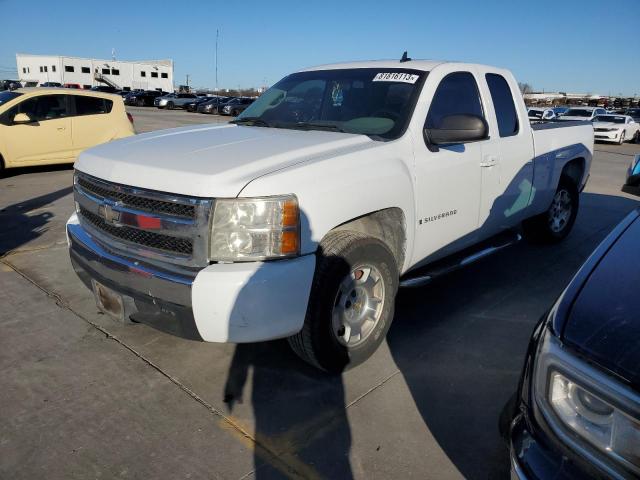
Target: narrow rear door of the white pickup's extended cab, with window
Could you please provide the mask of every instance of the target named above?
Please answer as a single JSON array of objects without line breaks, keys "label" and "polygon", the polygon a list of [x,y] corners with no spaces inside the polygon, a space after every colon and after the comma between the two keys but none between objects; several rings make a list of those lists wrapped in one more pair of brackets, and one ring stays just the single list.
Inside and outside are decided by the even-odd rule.
[{"label": "narrow rear door of the white pickup's extended cab, with window", "polygon": [[[481,67],[480,67],[481,68]],[[518,94],[506,74],[480,69],[490,139],[481,163],[480,237],[517,225],[528,214],[533,182],[533,139]]]}]

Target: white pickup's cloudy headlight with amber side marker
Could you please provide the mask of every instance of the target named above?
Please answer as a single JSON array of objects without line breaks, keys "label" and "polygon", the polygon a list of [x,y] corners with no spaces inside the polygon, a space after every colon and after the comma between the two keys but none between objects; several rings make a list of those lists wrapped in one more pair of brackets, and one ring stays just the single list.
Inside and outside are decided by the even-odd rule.
[{"label": "white pickup's cloudy headlight with amber side marker", "polygon": [[300,252],[300,214],[294,195],[215,201],[210,259],[255,261]]}]

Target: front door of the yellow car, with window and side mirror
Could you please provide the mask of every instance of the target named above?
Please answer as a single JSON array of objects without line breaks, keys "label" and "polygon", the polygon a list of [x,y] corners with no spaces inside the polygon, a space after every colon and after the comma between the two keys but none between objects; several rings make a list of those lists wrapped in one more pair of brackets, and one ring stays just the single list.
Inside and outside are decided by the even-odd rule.
[{"label": "front door of the yellow car, with window and side mirror", "polygon": [[[26,98],[7,113],[5,142],[11,163],[26,166],[73,160],[67,100],[68,95],[38,95]],[[14,124],[18,113],[28,115],[31,122]]]}]

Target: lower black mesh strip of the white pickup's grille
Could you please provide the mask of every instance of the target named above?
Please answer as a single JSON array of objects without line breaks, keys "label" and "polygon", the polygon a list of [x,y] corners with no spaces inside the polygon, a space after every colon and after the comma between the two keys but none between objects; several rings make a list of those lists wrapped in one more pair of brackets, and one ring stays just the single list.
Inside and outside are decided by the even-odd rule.
[{"label": "lower black mesh strip of the white pickup's grille", "polygon": [[80,208],[80,214],[94,227],[108,233],[109,235],[121,240],[144,245],[145,247],[154,248],[163,252],[180,253],[183,255],[191,255],[193,252],[193,244],[187,238],[171,237],[159,233],[138,230],[131,227],[116,227],[108,224],[95,213],[85,208]]}]

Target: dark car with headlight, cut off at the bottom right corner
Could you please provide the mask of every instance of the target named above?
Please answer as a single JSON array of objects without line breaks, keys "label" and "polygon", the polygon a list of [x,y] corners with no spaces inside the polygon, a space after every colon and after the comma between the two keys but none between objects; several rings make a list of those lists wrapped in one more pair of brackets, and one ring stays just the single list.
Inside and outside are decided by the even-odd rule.
[{"label": "dark car with headlight, cut off at the bottom right corner", "polygon": [[502,415],[511,478],[640,476],[639,217],[607,236],[533,332]]}]

